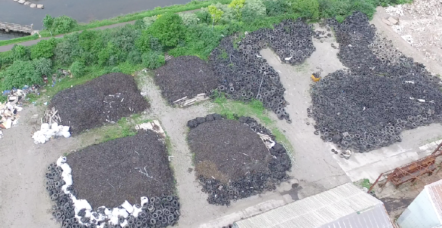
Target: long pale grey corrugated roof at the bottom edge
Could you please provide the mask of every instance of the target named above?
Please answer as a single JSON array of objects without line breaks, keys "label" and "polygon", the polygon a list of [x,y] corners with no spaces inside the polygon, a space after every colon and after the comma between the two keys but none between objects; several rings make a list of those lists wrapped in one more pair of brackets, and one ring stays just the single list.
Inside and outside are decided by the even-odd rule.
[{"label": "long pale grey corrugated roof at the bottom edge", "polygon": [[235,223],[238,228],[392,228],[384,204],[352,183]]}]

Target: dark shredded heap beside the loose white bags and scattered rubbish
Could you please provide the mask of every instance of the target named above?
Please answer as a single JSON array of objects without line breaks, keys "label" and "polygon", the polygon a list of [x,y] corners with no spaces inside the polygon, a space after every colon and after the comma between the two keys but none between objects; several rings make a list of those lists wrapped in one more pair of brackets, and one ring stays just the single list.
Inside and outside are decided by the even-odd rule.
[{"label": "dark shredded heap beside the loose white bags and scattered rubbish", "polygon": [[71,133],[80,133],[106,120],[116,122],[142,112],[149,104],[140,95],[132,76],[111,73],[61,90],[51,99],[52,107],[58,110],[61,124],[70,126]]}]

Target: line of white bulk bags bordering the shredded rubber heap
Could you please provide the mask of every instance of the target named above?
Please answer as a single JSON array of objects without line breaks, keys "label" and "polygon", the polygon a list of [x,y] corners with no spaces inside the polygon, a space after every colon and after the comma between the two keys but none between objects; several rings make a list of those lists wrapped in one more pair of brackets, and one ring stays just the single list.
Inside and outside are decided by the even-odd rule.
[{"label": "line of white bulk bags bordering the shredded rubber heap", "polygon": [[[125,200],[119,207],[122,208],[107,208],[105,206],[101,206],[98,208],[103,208],[98,211],[104,211],[104,213],[98,213],[92,211],[92,207],[90,206],[89,202],[87,202],[86,199],[77,199],[75,196],[72,196],[70,194],[70,191],[67,189],[72,185],[72,169],[69,167],[69,165],[66,163],[66,157],[60,156],[57,159],[56,162],[57,166],[61,167],[63,172],[61,173],[61,177],[64,180],[65,184],[61,187],[61,189],[64,191],[66,195],[69,196],[69,198],[72,199],[72,202],[74,204],[74,211],[75,211],[75,217],[78,219],[80,224],[84,224],[80,221],[81,217],[78,216],[78,212],[80,210],[85,210],[86,214],[83,217],[89,218],[89,222],[86,223],[86,225],[90,225],[91,223],[97,224],[98,221],[103,221],[109,219],[109,223],[113,224],[114,226],[119,224],[121,227],[124,227],[127,224],[126,218],[129,217],[129,215],[133,215],[134,217],[138,217],[138,213],[141,212],[141,208],[138,208],[136,205],[131,205],[127,200]],[[141,197],[140,198],[141,205],[143,205],[145,202],[148,202],[149,199],[147,197]],[[123,223],[118,223],[118,217],[122,216],[125,218]],[[103,228],[105,226],[105,223],[102,223],[101,225],[97,226],[98,228]]]}]

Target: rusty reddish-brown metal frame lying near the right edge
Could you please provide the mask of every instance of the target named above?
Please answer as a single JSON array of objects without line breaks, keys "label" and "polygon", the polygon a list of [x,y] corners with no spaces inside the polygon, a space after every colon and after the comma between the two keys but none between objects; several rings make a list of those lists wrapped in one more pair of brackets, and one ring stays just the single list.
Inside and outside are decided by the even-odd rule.
[{"label": "rusty reddish-brown metal frame lying near the right edge", "polygon": [[[441,164],[436,165],[436,158],[442,156],[441,147],[442,147],[442,142],[438,145],[438,147],[436,147],[436,149],[430,155],[418,159],[414,162],[410,162],[408,164],[400,166],[394,170],[381,173],[379,177],[376,179],[376,181],[371,185],[370,189],[368,190],[368,193],[370,193],[373,187],[378,183],[379,179],[386,173],[388,173],[387,181],[380,186],[381,188],[384,188],[389,181],[391,181],[396,186],[396,188],[399,187],[399,185],[407,182],[412,182],[413,184],[415,184],[418,180],[421,180],[421,178],[419,178],[420,176],[427,173],[434,174],[439,172],[442,168]],[[403,177],[410,177],[410,178],[406,179],[405,181],[400,181],[401,178]]]}]

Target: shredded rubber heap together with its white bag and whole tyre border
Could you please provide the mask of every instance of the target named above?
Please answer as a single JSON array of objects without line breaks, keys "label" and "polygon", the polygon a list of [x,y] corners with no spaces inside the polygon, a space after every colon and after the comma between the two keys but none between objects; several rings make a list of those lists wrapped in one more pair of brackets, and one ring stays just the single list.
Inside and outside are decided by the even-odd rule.
[{"label": "shredded rubber heap together with its white bag and whole tyre border", "polygon": [[[98,228],[102,223],[105,228],[174,226],[180,217],[180,203],[172,195],[173,177],[167,159],[163,139],[152,131],[86,147],[68,155],[74,181],[67,187],[69,192],[61,188],[66,184],[62,177],[66,164],[52,163],[47,168],[46,190],[55,203],[55,220],[61,228]],[[77,213],[80,219],[76,218],[74,206],[78,205],[73,203],[73,196],[86,199],[96,211],[88,216],[81,209]],[[147,197],[148,201],[140,205],[140,197]],[[139,209],[137,214],[128,210],[111,222],[105,208],[99,207],[105,205],[112,212],[112,207],[117,207],[121,211],[123,207],[119,205],[125,200]]]}]

